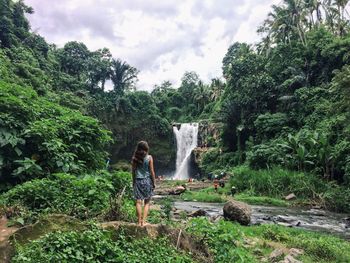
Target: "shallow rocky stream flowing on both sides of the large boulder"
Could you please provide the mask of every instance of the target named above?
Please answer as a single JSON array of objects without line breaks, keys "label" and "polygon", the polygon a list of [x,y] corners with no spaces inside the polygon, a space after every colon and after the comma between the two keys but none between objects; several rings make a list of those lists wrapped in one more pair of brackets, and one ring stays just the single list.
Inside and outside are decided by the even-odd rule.
[{"label": "shallow rocky stream flowing on both sides of the large boulder", "polygon": [[[205,210],[209,216],[223,216],[223,204],[176,201],[174,207],[193,212]],[[252,225],[279,224],[338,235],[350,240],[349,215],[321,209],[285,208],[252,205]]]}]

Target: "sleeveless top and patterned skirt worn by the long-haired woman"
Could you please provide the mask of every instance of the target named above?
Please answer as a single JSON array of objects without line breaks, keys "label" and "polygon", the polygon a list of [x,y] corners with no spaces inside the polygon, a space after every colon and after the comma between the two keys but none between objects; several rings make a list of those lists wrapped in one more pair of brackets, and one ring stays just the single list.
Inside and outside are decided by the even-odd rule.
[{"label": "sleeveless top and patterned skirt worn by the long-haired woman", "polygon": [[151,156],[147,155],[142,165],[138,165],[135,171],[134,198],[136,200],[145,200],[153,196],[153,186],[150,172]]}]

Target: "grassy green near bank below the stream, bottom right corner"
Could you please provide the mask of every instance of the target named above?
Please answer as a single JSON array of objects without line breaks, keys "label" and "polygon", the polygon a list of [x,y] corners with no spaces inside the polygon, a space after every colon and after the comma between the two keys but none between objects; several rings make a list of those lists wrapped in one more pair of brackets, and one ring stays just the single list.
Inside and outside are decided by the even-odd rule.
[{"label": "grassy green near bank below the stream, bottom right corner", "polygon": [[303,262],[350,262],[350,243],[327,234],[278,225],[241,226],[221,220],[191,219],[186,230],[212,250],[215,262],[261,262],[275,248],[304,250]]}]

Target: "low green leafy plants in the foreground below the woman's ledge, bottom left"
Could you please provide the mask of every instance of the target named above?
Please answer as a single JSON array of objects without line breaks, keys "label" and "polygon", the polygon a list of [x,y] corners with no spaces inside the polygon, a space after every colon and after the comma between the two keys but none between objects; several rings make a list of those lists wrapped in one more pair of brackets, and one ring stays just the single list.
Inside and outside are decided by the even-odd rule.
[{"label": "low green leafy plants in the foreground below the woman's ledge, bottom left", "polygon": [[[147,244],[147,245],[145,245]],[[127,239],[123,234],[91,227],[83,232],[53,232],[17,246],[12,262],[193,262],[166,238]]]}]

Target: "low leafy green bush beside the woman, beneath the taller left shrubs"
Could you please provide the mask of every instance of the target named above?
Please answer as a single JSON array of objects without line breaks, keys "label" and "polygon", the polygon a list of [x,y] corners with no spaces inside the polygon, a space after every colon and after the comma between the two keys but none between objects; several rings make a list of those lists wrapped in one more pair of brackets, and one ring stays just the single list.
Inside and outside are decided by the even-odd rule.
[{"label": "low leafy green bush beside the woman, beneath the taller left shrubs", "polygon": [[[34,214],[65,213],[82,219],[91,218],[107,209],[110,199],[124,186],[127,186],[125,194],[130,196],[130,177],[130,174],[123,172],[111,175],[105,173],[102,176],[86,175],[83,178],[55,174],[51,178],[35,179],[17,185],[1,196],[2,203]],[[22,213],[19,216],[26,215]],[[35,216],[31,220],[35,220]]]}]

